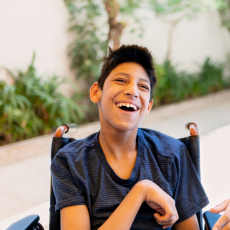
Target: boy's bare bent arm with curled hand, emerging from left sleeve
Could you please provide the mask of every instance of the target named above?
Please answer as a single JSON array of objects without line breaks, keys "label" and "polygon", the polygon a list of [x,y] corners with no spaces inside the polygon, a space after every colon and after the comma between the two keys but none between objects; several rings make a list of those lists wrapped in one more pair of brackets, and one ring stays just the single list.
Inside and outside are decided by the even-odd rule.
[{"label": "boy's bare bent arm with curled hand, emerging from left sleeve", "polygon": [[[143,180],[138,182],[124,198],[112,215],[99,228],[100,230],[128,230],[140,209],[142,203],[146,203],[162,213],[162,216],[154,215],[156,221],[164,228],[172,226],[178,215],[174,200],[155,183]],[[86,205],[77,205],[61,210],[62,230],[89,230],[90,217]]]}]

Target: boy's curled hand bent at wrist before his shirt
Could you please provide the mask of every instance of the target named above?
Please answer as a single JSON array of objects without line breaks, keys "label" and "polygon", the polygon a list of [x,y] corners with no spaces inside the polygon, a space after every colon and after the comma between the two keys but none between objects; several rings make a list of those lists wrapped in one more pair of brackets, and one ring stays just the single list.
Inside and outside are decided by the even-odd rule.
[{"label": "boy's curled hand bent at wrist before his shirt", "polygon": [[178,213],[175,207],[175,201],[158,185],[150,180],[142,180],[145,186],[145,202],[158,213],[154,217],[163,229],[171,227],[178,220]]}]

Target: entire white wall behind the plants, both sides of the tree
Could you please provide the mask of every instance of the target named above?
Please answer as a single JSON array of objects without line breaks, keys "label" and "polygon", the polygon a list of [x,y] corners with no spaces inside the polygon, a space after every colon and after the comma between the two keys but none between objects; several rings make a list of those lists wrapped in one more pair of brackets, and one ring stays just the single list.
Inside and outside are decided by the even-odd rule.
[{"label": "entire white wall behind the plants, both sides of the tree", "polygon": [[[144,36],[124,31],[122,43],[137,43],[148,47],[161,63],[166,56],[169,25],[153,13],[140,10]],[[72,79],[67,45],[70,43],[68,11],[62,0],[1,0],[0,4],[0,67],[25,69],[33,50],[38,74],[67,75]],[[230,52],[230,35],[220,27],[217,12],[210,11],[196,20],[180,22],[175,30],[172,60],[181,69],[195,70],[196,63],[207,56],[224,60]],[[0,70],[0,78],[6,79]]]}]

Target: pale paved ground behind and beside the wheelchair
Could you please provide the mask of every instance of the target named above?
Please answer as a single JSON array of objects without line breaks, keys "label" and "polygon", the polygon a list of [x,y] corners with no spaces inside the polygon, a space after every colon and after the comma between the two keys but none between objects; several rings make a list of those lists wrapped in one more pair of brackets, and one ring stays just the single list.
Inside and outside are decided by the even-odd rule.
[{"label": "pale paved ground behind and beside the wheelchair", "polygon": [[[198,124],[201,135],[201,177],[210,199],[207,210],[230,197],[230,91],[153,109],[141,126],[179,138],[188,135],[184,127],[189,121]],[[98,129],[94,123],[72,135],[82,138]],[[49,158],[47,151],[0,167],[0,229],[34,213],[48,229]]]}]

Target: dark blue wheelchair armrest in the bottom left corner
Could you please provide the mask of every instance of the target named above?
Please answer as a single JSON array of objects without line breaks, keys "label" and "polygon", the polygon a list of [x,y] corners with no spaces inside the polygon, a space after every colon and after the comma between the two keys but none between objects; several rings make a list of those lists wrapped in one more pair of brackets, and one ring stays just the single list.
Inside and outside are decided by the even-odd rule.
[{"label": "dark blue wheelchair armrest in the bottom left corner", "polygon": [[40,217],[38,215],[29,215],[14,222],[6,230],[43,230],[44,228],[38,223],[39,220]]}]

